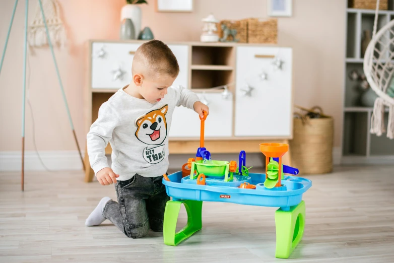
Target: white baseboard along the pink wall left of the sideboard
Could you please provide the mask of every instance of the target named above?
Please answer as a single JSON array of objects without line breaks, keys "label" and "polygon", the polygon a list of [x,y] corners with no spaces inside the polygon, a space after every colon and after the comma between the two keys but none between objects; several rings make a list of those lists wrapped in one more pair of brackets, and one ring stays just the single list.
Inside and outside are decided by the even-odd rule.
[{"label": "white baseboard along the pink wall left of the sideboard", "polygon": [[[49,170],[82,170],[78,151],[39,151],[44,165]],[[84,156],[84,153],[82,153]],[[0,171],[21,171],[21,151],[0,152]],[[25,151],[25,171],[45,171],[35,151]]]}]

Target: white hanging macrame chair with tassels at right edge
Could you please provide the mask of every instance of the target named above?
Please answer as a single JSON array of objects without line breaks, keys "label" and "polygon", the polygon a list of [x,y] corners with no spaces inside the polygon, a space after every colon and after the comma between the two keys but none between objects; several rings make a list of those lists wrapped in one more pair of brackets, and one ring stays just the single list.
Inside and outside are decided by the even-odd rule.
[{"label": "white hanging macrame chair with tassels at right edge", "polygon": [[[364,74],[372,90],[378,95],[373,105],[370,133],[381,136],[384,127],[384,110],[388,107],[387,137],[394,138],[394,98],[388,95],[394,88],[394,20],[383,26],[378,32],[377,17],[379,0],[376,2],[375,20],[372,39],[364,55]],[[392,94],[391,94],[392,95]]]}]

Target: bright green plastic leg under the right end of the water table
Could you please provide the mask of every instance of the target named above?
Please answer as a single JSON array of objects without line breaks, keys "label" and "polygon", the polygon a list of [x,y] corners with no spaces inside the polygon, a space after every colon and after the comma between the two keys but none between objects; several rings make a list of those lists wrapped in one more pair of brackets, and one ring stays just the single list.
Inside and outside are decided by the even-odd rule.
[{"label": "bright green plastic leg under the right end of the water table", "polygon": [[275,212],[276,251],[275,257],[288,258],[301,241],[305,227],[305,202],[290,207],[290,211]]}]

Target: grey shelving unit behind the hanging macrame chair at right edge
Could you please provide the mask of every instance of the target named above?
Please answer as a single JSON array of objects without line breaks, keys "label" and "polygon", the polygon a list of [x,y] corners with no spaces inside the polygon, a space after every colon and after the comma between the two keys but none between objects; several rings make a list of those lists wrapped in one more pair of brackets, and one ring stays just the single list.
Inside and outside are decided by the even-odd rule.
[{"label": "grey shelving unit behind the hanging macrame chair at right edge", "polygon": [[[388,10],[379,10],[377,31],[394,19],[394,0],[388,1]],[[385,134],[377,137],[370,134],[370,122],[373,108],[362,105],[360,82],[352,81],[349,73],[353,70],[363,73],[362,37],[364,30],[369,30],[371,37],[375,10],[346,10],[346,57],[344,80],[344,122],[342,138],[342,163],[393,163],[394,140]],[[387,59],[388,57],[387,52]],[[392,58],[391,58],[392,59]],[[392,61],[391,61],[392,62]],[[388,110],[387,110],[388,111]],[[385,113],[387,120],[387,114]],[[386,123],[387,125],[387,123]]]}]

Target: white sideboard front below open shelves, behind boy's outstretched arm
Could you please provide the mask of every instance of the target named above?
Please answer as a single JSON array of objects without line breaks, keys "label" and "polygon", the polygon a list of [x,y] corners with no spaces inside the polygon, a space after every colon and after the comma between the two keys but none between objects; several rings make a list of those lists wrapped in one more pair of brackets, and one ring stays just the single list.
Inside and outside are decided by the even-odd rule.
[{"label": "white sideboard front below open shelves, behind boy's outstretched arm", "polygon": [[[223,98],[222,93],[196,93],[208,101],[209,116],[205,121],[205,137],[231,137],[233,98]],[[201,120],[197,113],[183,106],[176,107],[172,116],[169,137],[200,138]]]}]

